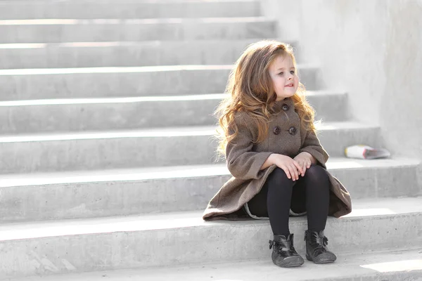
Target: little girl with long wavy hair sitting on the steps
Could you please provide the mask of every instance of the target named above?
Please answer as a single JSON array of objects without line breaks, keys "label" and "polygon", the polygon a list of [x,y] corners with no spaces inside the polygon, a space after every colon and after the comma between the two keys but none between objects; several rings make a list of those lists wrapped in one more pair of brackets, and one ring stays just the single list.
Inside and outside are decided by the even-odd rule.
[{"label": "little girl with long wavy hair sitting on the steps", "polygon": [[220,150],[232,178],[205,209],[205,221],[267,219],[274,264],[301,266],[289,215],[307,214],[306,258],[331,263],[324,236],[327,216],[352,210],[349,192],[326,171],[328,155],[316,137],[314,110],[305,99],[293,49],[277,41],[250,45],[236,62],[219,105]]}]

